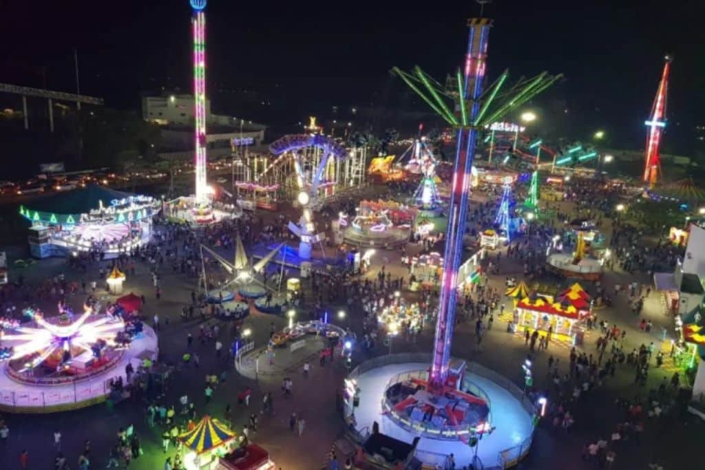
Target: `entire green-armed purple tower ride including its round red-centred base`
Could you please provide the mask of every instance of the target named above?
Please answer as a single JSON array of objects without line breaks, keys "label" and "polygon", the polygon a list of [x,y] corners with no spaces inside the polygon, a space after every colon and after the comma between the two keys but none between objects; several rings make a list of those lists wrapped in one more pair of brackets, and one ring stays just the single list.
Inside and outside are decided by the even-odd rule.
[{"label": "entire green-armed purple tower ride including its round red-centred base", "polygon": [[[541,73],[537,77],[520,80],[500,94],[499,91],[508,77],[508,72],[505,71],[489,89],[482,92],[486,72],[487,39],[492,22],[487,18],[471,18],[467,25],[470,28],[470,37],[467,54],[464,56],[465,67],[462,72],[458,69],[455,73],[457,85],[451,92],[419,67],[415,67],[412,73],[393,68],[393,73],[402,78],[431,109],[453,126],[457,132],[457,151],[448,206],[446,252],[443,256],[431,369],[429,373],[410,371],[393,376],[383,392],[383,411],[389,420],[388,433],[403,433],[406,438],[409,438],[410,434],[422,436],[422,443],[424,438],[434,441],[450,440],[453,450],[449,452],[455,453],[455,462],[458,465],[475,463],[467,442],[470,438],[493,429],[489,419],[489,400],[482,396],[484,393],[474,392],[473,390],[479,388],[465,380],[465,361],[451,363],[450,357],[462,237],[465,233],[471,168],[478,129],[498,121],[560,78],[560,75]],[[448,104],[447,98],[453,102]],[[500,104],[493,108],[495,99]],[[413,377],[410,377],[412,374]],[[413,378],[412,385],[407,387],[410,378]],[[390,394],[395,394],[396,391],[399,401],[390,400]],[[379,400],[379,396],[376,400]],[[453,410],[454,404],[458,404],[463,410],[460,412],[461,416]],[[487,410],[486,414],[480,412],[484,409]],[[467,419],[466,414],[470,415]],[[422,443],[419,445],[423,445]],[[497,459],[496,455],[494,459]],[[483,460],[487,464],[491,459]]]}]

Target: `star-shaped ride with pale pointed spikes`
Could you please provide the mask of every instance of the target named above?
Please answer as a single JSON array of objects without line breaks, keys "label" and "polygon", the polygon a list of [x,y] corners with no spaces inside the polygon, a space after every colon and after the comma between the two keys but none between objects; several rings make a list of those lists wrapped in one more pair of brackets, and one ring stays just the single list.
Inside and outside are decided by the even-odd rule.
[{"label": "star-shaped ride with pale pointed spikes", "polygon": [[[276,256],[282,247],[284,247],[283,243],[272,249],[268,254],[266,254],[266,256],[257,261],[257,263],[250,264],[250,260],[247,258],[245,247],[243,246],[243,240],[240,239],[240,235],[235,238],[235,259],[233,259],[232,263],[223,258],[223,256],[214,252],[209,247],[201,245],[201,282],[204,291],[207,292],[208,301],[212,303],[222,303],[233,300],[235,295],[233,292],[228,290],[228,287],[233,284],[238,286],[238,294],[241,297],[245,297],[246,299],[257,299],[259,297],[264,297],[267,294],[267,290],[273,289],[260,281],[257,278],[257,275],[262,275],[262,273],[264,273],[269,261]],[[204,251],[212,256],[215,261],[218,261],[219,264],[221,264],[221,266],[223,266],[223,268],[225,268],[225,270],[233,276],[231,280],[228,280],[225,284],[215,290],[208,289],[206,263],[203,256]]]}]

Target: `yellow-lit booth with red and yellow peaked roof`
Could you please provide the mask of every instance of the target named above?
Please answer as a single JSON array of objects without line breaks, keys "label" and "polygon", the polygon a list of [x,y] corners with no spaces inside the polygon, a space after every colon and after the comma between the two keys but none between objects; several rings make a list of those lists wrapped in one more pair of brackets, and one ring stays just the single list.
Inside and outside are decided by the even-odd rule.
[{"label": "yellow-lit booth with red and yellow peaked roof", "polygon": [[575,283],[560,292],[555,298],[536,292],[517,302],[514,323],[517,330],[537,330],[539,335],[548,335],[570,340],[581,345],[585,328],[583,321],[590,315],[590,296]]}]

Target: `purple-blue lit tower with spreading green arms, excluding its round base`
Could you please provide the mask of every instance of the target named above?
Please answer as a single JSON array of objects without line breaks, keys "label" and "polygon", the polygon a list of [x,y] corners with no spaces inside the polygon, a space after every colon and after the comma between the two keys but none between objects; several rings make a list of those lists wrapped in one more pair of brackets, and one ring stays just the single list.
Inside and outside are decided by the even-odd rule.
[{"label": "purple-blue lit tower with spreading green arms, excluding its round base", "polygon": [[[439,314],[436,319],[433,364],[431,364],[429,376],[430,388],[434,390],[443,388],[448,378],[450,342],[455,323],[458,267],[462,254],[462,235],[465,233],[477,132],[484,126],[497,122],[506,113],[522,106],[562,77],[562,75],[549,75],[542,72],[533,78],[520,79],[500,94],[499,91],[509,75],[508,70],[505,70],[485,92],[482,92],[486,70],[487,38],[492,22],[487,18],[470,18],[467,20],[467,25],[470,27],[470,37],[467,41],[465,66],[462,71],[458,70],[455,74],[457,87],[446,89],[419,67],[415,67],[412,73],[404,72],[398,67],[392,69],[393,73],[402,78],[457,132],[453,185],[448,206],[446,251],[443,256],[439,294]],[[453,100],[453,109],[446,103],[448,98]],[[493,105],[496,106],[493,107]]]}]

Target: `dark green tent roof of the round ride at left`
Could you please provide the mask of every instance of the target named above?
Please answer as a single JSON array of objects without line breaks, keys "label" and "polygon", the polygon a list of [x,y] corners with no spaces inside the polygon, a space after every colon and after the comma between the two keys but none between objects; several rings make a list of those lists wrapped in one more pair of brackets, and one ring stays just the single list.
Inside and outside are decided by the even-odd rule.
[{"label": "dark green tent roof of the round ride at left", "polygon": [[52,212],[54,214],[87,214],[91,209],[98,209],[99,201],[104,206],[110,206],[113,199],[125,199],[133,196],[130,192],[111,190],[99,185],[66,192],[57,192],[47,197],[39,197],[26,204],[32,211]]}]

